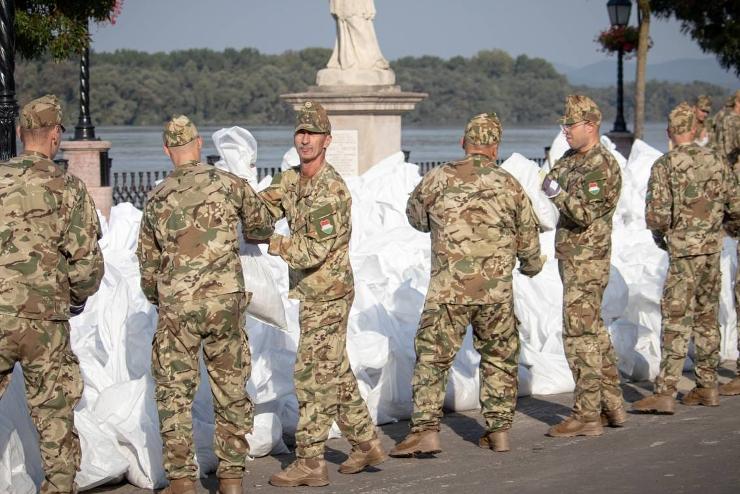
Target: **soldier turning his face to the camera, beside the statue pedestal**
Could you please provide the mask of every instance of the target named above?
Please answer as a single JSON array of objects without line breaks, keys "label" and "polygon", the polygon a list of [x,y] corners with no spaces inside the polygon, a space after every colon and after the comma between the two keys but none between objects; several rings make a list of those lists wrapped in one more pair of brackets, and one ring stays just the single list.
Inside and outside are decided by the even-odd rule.
[{"label": "soldier turning his face to the camera, beside the statue pedestal", "polygon": [[290,237],[274,234],[269,252],[288,264],[290,297],[300,300],[294,373],[297,459],[273,475],[270,483],[322,486],[329,483],[324,443],[332,422],[352,444],[341,473],[360,472],[385,461],[386,454],[347,356],[347,322],[354,299],[349,263],[352,198],[326,161],[331,124],[320,103],[306,101],[297,111],[293,142],[300,165],[276,175],[260,194],[275,221],[288,220]]}]

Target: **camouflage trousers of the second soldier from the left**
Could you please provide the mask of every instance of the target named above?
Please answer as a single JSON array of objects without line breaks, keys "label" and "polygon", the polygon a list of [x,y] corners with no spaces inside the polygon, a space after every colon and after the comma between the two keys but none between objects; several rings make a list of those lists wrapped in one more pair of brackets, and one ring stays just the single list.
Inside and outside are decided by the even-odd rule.
[{"label": "camouflage trousers of the second soldier from the left", "polygon": [[201,344],[215,412],[216,475],[244,474],[249,453],[244,435],[252,430],[252,402],[246,392],[252,369],[244,331],[246,306],[245,294],[230,293],[159,309],[152,375],[169,479],[196,477],[192,405],[200,382]]}]

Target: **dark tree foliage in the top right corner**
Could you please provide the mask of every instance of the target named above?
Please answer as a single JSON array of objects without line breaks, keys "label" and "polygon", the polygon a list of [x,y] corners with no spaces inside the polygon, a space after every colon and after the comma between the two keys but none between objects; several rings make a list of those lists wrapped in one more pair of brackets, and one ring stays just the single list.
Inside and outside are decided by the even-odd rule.
[{"label": "dark tree foliage in the top right corner", "polygon": [[650,0],[656,17],[675,17],[705,52],[740,75],[740,2],[738,0]]}]

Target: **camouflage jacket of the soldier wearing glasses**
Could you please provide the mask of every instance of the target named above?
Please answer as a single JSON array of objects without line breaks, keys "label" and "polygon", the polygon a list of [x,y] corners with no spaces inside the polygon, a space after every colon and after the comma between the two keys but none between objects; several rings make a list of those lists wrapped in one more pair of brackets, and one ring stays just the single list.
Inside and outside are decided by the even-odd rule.
[{"label": "camouflage jacket of the soldier wearing glasses", "polygon": [[551,199],[560,210],[555,257],[608,260],[612,216],[622,188],[622,174],[614,156],[601,144],[585,154],[570,149],[547,176],[562,187]]}]

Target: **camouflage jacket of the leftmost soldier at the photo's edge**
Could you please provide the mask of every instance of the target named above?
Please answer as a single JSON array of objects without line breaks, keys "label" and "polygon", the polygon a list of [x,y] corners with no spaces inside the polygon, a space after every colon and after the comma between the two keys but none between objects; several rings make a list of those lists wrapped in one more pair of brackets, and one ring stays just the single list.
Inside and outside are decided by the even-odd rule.
[{"label": "camouflage jacket of the leftmost soldier at the photo's edge", "polygon": [[103,277],[100,236],[78,178],[40,153],[0,163],[0,313],[69,319]]}]

